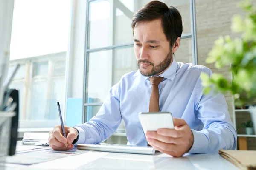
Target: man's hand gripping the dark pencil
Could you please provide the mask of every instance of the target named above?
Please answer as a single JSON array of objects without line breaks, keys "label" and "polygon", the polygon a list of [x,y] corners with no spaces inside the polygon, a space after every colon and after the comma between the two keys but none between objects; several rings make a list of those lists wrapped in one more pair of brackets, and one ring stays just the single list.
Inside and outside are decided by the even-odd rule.
[{"label": "man's hand gripping the dark pencil", "polygon": [[[67,139],[63,136],[61,125],[56,125],[49,132],[49,146],[54,150],[69,150],[74,147],[72,142],[77,138],[77,130],[73,127],[64,126]],[[65,144],[68,144],[67,147]]]}]

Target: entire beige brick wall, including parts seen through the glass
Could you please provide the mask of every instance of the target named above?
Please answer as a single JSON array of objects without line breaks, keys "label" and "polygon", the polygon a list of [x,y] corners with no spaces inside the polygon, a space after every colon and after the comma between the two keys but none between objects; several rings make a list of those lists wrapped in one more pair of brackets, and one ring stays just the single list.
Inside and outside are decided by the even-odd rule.
[{"label": "entire beige brick wall, including parts seen through the glass", "polygon": [[[197,34],[197,52],[198,52],[198,64],[205,65],[212,70],[214,73],[221,73],[224,77],[230,79],[231,74],[229,72],[229,67],[216,69],[214,64],[205,63],[208,57],[209,51],[212,49],[214,41],[218,39],[219,36],[230,35],[231,38],[239,37],[239,34],[234,34],[231,32],[231,18],[233,14],[241,14],[244,16],[244,11],[237,8],[237,4],[241,0],[196,0],[195,3],[195,14],[196,14],[196,34]],[[256,1],[253,1],[253,5],[256,5]],[[189,4],[183,4],[177,6],[183,17],[183,33],[187,33],[191,28],[189,22],[187,22],[190,16]],[[175,54],[175,59],[178,62],[192,62],[191,50],[189,48],[189,43],[191,44],[191,39],[183,39],[180,42],[180,48]],[[228,110],[230,117],[234,122],[233,117],[233,99],[228,93],[224,94],[225,99],[228,104]],[[236,113],[236,128],[238,134],[244,134],[245,130],[241,127],[241,123],[250,120],[250,114],[246,112]],[[256,150],[256,138],[247,138],[248,150]]]}]

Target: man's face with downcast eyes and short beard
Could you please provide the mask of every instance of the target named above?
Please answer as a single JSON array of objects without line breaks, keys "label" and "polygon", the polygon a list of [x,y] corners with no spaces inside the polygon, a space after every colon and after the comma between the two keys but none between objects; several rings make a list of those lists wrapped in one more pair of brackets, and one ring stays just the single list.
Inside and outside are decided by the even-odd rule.
[{"label": "man's face with downcast eyes and short beard", "polygon": [[161,74],[171,65],[173,52],[170,50],[170,43],[163,32],[160,19],[136,23],[134,53],[142,75]]}]

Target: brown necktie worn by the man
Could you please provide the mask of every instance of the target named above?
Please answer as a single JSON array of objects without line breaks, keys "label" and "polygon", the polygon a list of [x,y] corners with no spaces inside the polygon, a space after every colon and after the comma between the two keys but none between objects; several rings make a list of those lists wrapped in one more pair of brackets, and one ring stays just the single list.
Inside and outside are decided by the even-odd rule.
[{"label": "brown necktie worn by the man", "polygon": [[[163,80],[163,77],[150,77],[149,78],[152,91],[149,101],[149,112],[159,112],[159,92],[158,92],[158,85]],[[148,146],[150,146],[148,144]]]}]

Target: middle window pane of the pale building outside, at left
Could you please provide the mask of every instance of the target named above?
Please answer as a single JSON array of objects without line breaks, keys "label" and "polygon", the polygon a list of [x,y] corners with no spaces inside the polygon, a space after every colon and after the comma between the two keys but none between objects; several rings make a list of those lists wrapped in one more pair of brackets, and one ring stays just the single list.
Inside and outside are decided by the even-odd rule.
[{"label": "middle window pane of the pale building outside, at left", "polygon": [[[27,119],[44,120],[47,111],[47,82],[35,81],[32,83],[30,108],[31,112]],[[39,97],[40,96],[40,97]]]}]

